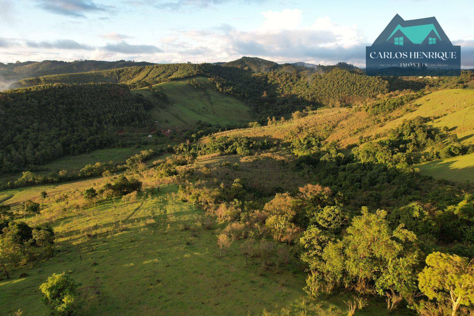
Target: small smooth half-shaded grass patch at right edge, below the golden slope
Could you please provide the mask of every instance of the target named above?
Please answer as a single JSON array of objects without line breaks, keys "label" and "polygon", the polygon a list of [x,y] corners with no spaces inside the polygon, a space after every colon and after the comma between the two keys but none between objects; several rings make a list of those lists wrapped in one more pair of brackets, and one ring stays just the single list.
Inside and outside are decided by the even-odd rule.
[{"label": "small smooth half-shaded grass patch at right edge, below the golden slope", "polygon": [[474,183],[474,154],[419,164],[420,172],[435,179]]}]

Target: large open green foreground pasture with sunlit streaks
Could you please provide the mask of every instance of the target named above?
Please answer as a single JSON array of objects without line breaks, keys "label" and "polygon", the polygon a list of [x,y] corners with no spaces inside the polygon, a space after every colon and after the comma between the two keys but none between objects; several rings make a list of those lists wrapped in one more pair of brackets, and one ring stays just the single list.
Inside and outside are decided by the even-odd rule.
[{"label": "large open green foreground pasture with sunlit streaks", "polygon": [[[63,184],[57,190],[74,191],[92,181]],[[18,203],[49,188],[9,190],[7,202]],[[195,225],[194,215],[202,211],[173,199],[176,189],[162,186],[137,202],[108,200],[53,220],[55,257],[0,280],[0,315],[19,308],[24,315],[50,315],[40,303],[38,287],[63,271],[97,291],[86,315],[262,315],[264,310],[275,315],[345,314],[349,293],[309,299],[302,290],[305,273],[282,269],[259,275],[255,264],[246,265],[239,241],[219,257],[216,232]],[[35,217],[41,221],[42,216],[47,214]],[[185,223],[191,229],[183,230]],[[19,278],[23,272],[28,276]],[[380,302],[360,312],[385,314]]]}]

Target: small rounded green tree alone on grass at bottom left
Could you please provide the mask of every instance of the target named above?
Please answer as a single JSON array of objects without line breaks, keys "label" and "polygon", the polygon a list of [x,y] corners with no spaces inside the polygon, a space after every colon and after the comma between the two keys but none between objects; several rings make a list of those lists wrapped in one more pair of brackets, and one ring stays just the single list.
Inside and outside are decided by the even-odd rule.
[{"label": "small rounded green tree alone on grass at bottom left", "polygon": [[82,304],[77,288],[77,283],[66,272],[61,274],[53,273],[39,289],[43,293],[41,299],[47,306],[57,310],[64,315],[71,315],[77,312]]}]

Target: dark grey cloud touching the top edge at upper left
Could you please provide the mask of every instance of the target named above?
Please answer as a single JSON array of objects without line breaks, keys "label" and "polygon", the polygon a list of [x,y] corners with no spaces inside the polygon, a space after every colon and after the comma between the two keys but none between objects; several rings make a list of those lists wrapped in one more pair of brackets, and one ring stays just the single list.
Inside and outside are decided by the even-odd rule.
[{"label": "dark grey cloud touching the top edge at upper left", "polygon": [[105,12],[111,9],[92,0],[37,0],[38,7],[46,11],[76,18],[85,18],[84,12]]}]

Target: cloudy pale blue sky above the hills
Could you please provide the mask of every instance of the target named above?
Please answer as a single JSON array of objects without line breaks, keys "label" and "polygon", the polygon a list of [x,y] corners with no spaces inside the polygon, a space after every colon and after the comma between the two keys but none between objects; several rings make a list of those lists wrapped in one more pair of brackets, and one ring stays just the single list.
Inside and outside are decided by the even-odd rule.
[{"label": "cloudy pale blue sky above the hills", "polygon": [[390,20],[436,17],[474,68],[473,0],[0,0],[0,62],[365,65]]}]

